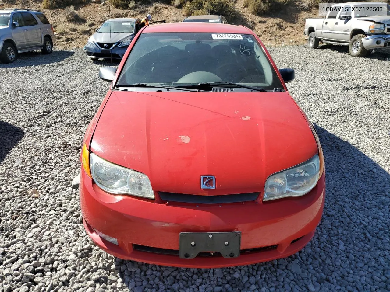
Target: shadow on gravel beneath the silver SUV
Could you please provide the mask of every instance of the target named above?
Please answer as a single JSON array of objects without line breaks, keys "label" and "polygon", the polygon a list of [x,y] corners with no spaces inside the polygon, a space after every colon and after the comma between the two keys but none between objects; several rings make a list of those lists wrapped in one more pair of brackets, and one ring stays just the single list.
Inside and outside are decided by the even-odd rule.
[{"label": "shadow on gravel beneath the silver SUV", "polygon": [[53,51],[53,53],[49,55],[43,55],[40,51],[20,53],[18,56],[18,60],[16,60],[14,63],[11,64],[0,63],[0,67],[17,68],[17,67],[47,65],[47,64],[61,62],[66,58],[69,58],[73,54],[74,52],[72,51]]}]

